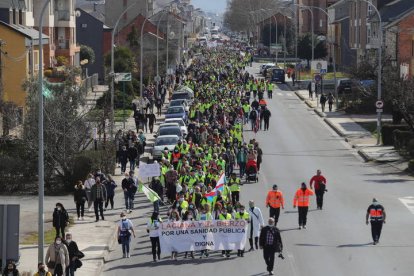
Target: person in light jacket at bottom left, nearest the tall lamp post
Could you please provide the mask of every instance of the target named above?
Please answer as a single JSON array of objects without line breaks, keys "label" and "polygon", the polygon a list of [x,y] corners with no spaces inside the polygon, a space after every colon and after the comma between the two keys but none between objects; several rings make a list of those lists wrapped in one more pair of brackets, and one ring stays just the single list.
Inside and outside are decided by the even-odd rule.
[{"label": "person in light jacket at bottom left, nearest the tall lamp post", "polygon": [[69,252],[61,237],[49,245],[46,251],[45,263],[53,276],[63,276],[69,266]]}]

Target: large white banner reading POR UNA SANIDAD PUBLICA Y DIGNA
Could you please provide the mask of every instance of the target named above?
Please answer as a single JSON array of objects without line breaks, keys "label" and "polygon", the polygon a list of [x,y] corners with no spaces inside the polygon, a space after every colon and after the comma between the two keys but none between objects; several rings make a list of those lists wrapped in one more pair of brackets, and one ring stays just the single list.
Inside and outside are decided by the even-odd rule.
[{"label": "large white banner reading POR UNA SANIDAD PUBLICA Y DIGNA", "polygon": [[247,225],[245,220],[163,222],[158,229],[161,252],[243,249]]}]

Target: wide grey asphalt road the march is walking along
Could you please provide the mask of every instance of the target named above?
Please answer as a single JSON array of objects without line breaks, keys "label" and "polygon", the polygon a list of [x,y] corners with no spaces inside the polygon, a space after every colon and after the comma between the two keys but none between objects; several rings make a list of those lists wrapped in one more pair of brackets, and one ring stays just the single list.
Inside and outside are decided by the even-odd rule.
[{"label": "wide grey asphalt road the march is walking along", "polygon": [[[384,175],[372,165],[364,164],[285,85],[280,88],[268,100],[272,112],[270,131],[256,135],[264,149],[259,183],[244,185],[241,196],[245,204],[249,199],[256,200],[267,218],[264,208],[267,190],[277,183],[285,194],[286,209],[281,214],[279,228],[286,259],[277,260],[276,275],[412,275],[414,216],[399,198],[412,195],[413,179]],[[254,137],[250,131],[245,135],[248,139]],[[297,230],[293,194],[317,168],[328,179],[325,208],[315,210],[312,198],[308,229]],[[370,245],[370,227],[365,225],[366,208],[373,197],[385,206],[389,218],[376,246]],[[122,259],[117,247],[109,256],[104,275],[214,275],[217,271],[222,275],[267,274],[260,251],[229,260],[216,254],[202,260],[165,258],[152,264],[144,226],[151,208],[144,198],[139,202],[138,215],[132,216],[139,229],[139,237],[133,241],[132,258]]]}]

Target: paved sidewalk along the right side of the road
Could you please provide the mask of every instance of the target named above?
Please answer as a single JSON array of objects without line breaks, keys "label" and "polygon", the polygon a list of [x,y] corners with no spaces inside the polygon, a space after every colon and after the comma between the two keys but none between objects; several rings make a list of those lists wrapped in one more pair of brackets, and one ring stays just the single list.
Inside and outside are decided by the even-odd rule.
[{"label": "paved sidewalk along the right side of the road", "polygon": [[[288,86],[294,90],[291,83]],[[323,120],[341,137],[344,137],[353,148],[358,150],[358,154],[366,161],[375,162],[404,162],[404,159],[398,154],[394,147],[377,145],[377,139],[369,131],[364,129],[360,124],[363,122],[376,122],[376,115],[354,115],[346,114],[341,111],[322,112],[317,99],[309,99],[308,90],[295,90],[295,94],[312,108]],[[335,104],[333,110],[336,110]],[[391,121],[390,115],[383,116],[383,122]],[[402,166],[404,167],[404,166]],[[406,167],[405,167],[406,168]]]}]

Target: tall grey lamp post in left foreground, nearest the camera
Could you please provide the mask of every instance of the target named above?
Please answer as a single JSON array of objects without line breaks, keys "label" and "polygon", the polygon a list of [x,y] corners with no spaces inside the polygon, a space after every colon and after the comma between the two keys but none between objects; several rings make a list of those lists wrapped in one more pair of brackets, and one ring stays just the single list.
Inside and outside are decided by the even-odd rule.
[{"label": "tall grey lamp post in left foreground, nearest the camera", "polygon": [[[39,18],[39,156],[38,156],[38,181],[39,181],[39,213],[38,213],[38,245],[37,245],[37,258],[39,262],[43,262],[44,256],[44,245],[45,245],[45,234],[44,234],[44,217],[43,217],[43,201],[45,195],[45,168],[44,168],[44,137],[43,137],[43,15],[49,5],[50,0],[46,0],[43,4],[42,11]],[[5,260],[3,260],[5,261]]]}]

